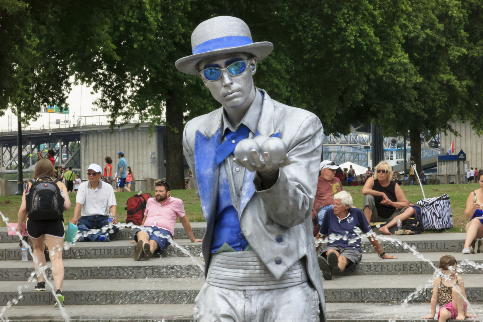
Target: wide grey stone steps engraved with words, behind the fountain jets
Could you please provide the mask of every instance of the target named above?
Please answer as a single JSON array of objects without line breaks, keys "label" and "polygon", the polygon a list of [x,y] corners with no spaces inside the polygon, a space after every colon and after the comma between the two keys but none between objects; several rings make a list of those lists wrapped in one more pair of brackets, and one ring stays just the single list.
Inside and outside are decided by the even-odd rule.
[{"label": "wide grey stone steps engraved with words, behind the fountain jets", "polygon": [[[197,237],[204,234],[205,226],[206,223],[192,224]],[[130,229],[121,230],[109,243],[76,243],[64,250],[63,293],[72,321],[192,321],[193,303],[204,284],[204,274],[197,265],[203,265],[199,257],[201,243],[191,243],[183,238],[186,235],[182,227],[176,229],[174,241],[187,249],[196,263],[171,245],[159,258],[133,261],[136,245],[129,243],[134,232]],[[16,298],[20,286],[24,296],[8,308],[6,315],[11,321],[58,320],[60,314],[52,307],[52,293],[34,291],[35,282],[27,281],[33,263],[20,261],[20,247],[1,228],[0,237],[0,305]],[[465,266],[463,260],[483,264],[483,254],[461,254],[465,234],[391,237],[419,250],[433,264],[444,254],[454,255],[464,270],[469,301],[482,308],[483,270]],[[380,259],[366,239],[361,246],[362,261],[343,276],[324,281],[329,321],[383,322],[389,318],[414,321],[429,313],[426,302],[431,287],[412,300],[410,309],[399,304],[418,287],[431,284],[432,267],[399,243],[383,239],[380,238],[380,243],[384,251],[398,259]],[[50,274],[50,269],[47,271]]]}]

